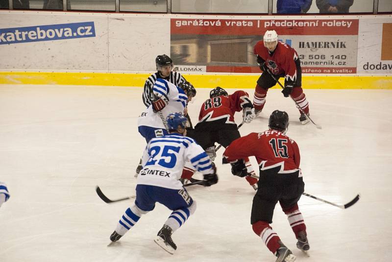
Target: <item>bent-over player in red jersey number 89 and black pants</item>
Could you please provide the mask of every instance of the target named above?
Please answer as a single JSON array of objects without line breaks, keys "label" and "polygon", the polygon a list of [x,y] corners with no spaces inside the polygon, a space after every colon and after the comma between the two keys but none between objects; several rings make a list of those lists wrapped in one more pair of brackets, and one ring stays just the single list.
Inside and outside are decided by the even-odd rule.
[{"label": "bent-over player in red jersey number 89 and black pants", "polygon": [[[195,130],[188,132],[188,136],[194,138],[214,161],[215,142],[227,147],[233,140],[241,137],[234,122],[234,113],[241,110],[243,122],[250,123],[255,118],[252,102],[245,91],[238,90],[229,95],[223,88],[215,87],[210,92],[210,98],[201,105],[199,122]],[[251,177],[255,173],[247,158],[245,165],[245,179],[257,190],[257,179]],[[183,178],[190,179],[192,175],[193,173],[183,173]]]}]

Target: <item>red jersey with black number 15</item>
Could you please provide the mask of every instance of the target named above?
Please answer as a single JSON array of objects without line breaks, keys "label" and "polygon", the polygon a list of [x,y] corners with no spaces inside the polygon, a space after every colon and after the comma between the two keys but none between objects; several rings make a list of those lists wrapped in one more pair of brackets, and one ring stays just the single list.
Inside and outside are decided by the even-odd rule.
[{"label": "red jersey with black number 15", "polygon": [[[280,166],[278,174],[300,171],[300,154],[297,143],[276,130],[250,133],[234,140],[224,151],[228,162],[254,155],[260,170]],[[299,172],[299,177],[302,176]]]}]

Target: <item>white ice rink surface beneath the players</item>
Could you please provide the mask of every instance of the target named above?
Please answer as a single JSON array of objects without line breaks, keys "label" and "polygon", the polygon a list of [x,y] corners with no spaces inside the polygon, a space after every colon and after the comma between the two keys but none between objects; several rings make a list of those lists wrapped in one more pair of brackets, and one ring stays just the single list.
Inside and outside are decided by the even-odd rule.
[{"label": "white ice rink surface beneath the players", "polygon": [[[197,89],[189,105],[194,124],[208,92]],[[390,262],[392,90],[305,93],[322,130],[302,126],[294,102],[271,89],[261,117],[241,133],[268,129],[272,110],[286,110],[287,134],[300,148],[305,192],[338,203],[358,193],[361,199],[342,210],[301,197],[310,257],[295,247],[279,205],[272,228],[300,262]],[[255,192],[220,164],[222,149],[219,183],[188,188],[197,209],[173,234],[174,255],[153,242],[171,213],[160,204],[106,246],[131,202],[106,204],[95,186],[109,198],[134,194],[134,170],[145,146],[137,131],[141,94],[136,87],[0,86],[0,181],[11,194],[0,208],[1,262],[275,261],[250,225]],[[237,113],[237,123],[241,117]]]}]

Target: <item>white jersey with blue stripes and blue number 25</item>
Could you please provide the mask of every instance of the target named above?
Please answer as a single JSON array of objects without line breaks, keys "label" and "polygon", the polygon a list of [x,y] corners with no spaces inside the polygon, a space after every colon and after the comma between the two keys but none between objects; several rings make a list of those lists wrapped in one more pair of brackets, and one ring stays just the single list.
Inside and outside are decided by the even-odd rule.
[{"label": "white jersey with blue stripes and blue number 25", "polygon": [[214,173],[207,153],[192,138],[178,133],[152,138],[144,151],[137,183],[181,189],[179,179],[187,161],[202,174]]}]

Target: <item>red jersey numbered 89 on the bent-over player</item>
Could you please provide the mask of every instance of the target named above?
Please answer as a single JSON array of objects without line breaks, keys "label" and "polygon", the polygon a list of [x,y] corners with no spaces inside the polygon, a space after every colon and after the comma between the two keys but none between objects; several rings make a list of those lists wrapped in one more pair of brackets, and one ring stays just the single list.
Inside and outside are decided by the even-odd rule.
[{"label": "red jersey numbered 89 on the bent-over player", "polygon": [[252,107],[252,102],[243,90],[235,91],[228,96],[221,95],[207,99],[201,105],[199,123],[226,119],[225,123],[235,124],[234,113],[246,107]]}]

